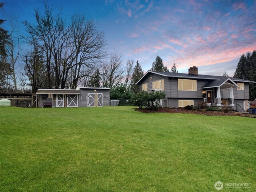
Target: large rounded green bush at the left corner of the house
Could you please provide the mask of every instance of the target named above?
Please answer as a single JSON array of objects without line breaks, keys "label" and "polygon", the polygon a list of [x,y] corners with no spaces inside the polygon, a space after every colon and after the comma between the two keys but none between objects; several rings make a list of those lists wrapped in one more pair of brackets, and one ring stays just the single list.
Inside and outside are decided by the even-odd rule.
[{"label": "large rounded green bush at the left corner of the house", "polygon": [[134,106],[142,108],[144,106],[146,109],[157,110],[160,104],[160,99],[165,98],[164,92],[139,92],[133,96]]}]

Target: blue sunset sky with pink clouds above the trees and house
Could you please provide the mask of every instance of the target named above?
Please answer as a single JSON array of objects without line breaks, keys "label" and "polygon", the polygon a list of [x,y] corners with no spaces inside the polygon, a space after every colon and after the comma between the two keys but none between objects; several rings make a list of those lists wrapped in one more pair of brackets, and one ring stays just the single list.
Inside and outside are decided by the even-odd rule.
[{"label": "blue sunset sky with pink clouds above the trees and house", "polygon": [[[18,14],[35,22],[34,8],[44,1],[8,1],[1,18]],[[256,49],[256,1],[48,1],[62,7],[63,16],[83,13],[103,31],[108,52],[118,50],[125,60],[139,60],[144,72],[156,56],[180,73],[197,66],[199,74],[233,76],[242,54]],[[8,22],[4,23],[8,30]],[[23,52],[26,48],[23,46]]]}]

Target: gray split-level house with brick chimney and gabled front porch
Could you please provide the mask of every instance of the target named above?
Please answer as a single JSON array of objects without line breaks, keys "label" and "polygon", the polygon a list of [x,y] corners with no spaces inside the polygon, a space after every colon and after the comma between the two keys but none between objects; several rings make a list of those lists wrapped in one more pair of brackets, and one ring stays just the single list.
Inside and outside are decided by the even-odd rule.
[{"label": "gray split-level house with brick chimney and gabled front porch", "polygon": [[178,108],[207,102],[209,106],[232,106],[238,111],[249,108],[249,80],[200,75],[196,66],[188,74],[147,71],[137,82],[141,90],[164,91],[163,107]]}]

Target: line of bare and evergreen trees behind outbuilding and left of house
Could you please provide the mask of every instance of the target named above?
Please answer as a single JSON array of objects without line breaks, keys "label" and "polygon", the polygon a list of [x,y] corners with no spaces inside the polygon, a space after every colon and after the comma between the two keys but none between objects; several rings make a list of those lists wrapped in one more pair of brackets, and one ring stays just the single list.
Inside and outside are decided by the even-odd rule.
[{"label": "line of bare and evergreen trees behind outbuilding and left of house", "polygon": [[[0,4],[3,8],[4,3]],[[68,22],[62,9],[47,2],[44,11],[34,9],[35,23],[22,21],[26,34],[20,34],[19,21],[8,18],[10,31],[0,28],[1,78],[0,92],[32,92],[38,88],[76,89],[83,87],[124,86],[134,93],[140,91],[136,82],[144,71],[137,60],[124,61],[122,53],[106,51],[104,32],[83,14],[74,14]],[[2,24],[5,20],[0,20]],[[26,43],[21,54],[20,40]],[[23,67],[23,70],[17,69]],[[157,56],[152,70],[166,71]]]}]

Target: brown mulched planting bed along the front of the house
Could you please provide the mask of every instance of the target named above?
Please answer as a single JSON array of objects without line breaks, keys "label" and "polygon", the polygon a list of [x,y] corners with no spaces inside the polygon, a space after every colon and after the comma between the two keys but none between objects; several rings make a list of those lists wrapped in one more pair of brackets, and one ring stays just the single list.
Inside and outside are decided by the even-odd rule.
[{"label": "brown mulched planting bed along the front of the house", "polygon": [[256,117],[253,114],[239,113],[239,112],[227,112],[223,111],[207,111],[207,110],[187,110],[182,108],[158,108],[158,110],[148,110],[145,108],[134,109],[143,113],[184,113],[184,114],[204,114],[204,115],[216,115],[216,116],[242,116],[242,117]]}]

